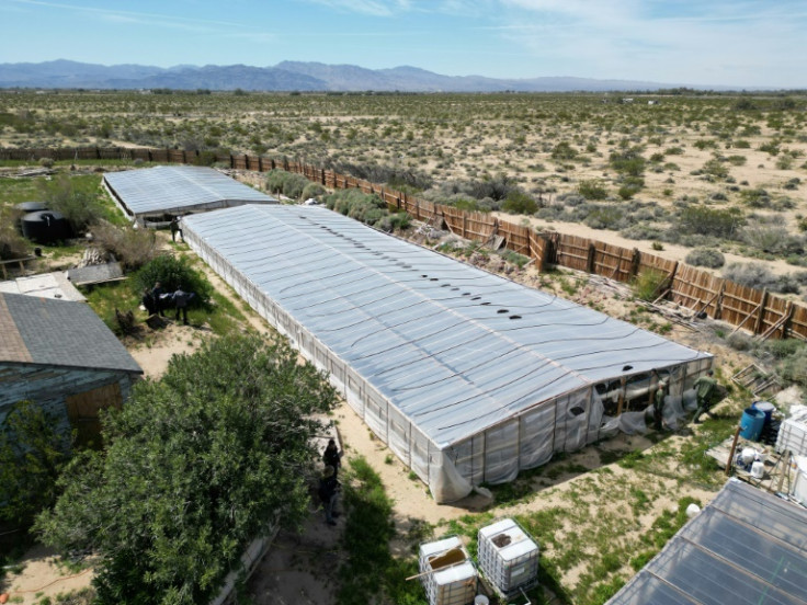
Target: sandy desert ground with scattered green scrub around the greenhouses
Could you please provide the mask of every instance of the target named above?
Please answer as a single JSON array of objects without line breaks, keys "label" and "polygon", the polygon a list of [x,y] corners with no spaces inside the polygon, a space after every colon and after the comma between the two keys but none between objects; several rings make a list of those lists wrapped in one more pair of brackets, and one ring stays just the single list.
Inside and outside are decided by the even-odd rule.
[{"label": "sandy desert ground with scattered green scrub around the greenhouses", "polygon": [[[148,165],[53,162],[41,159],[37,149],[178,148],[198,151],[202,160],[226,149],[304,161],[434,203],[638,248],[804,301],[806,107],[796,94],[680,90],[629,95],[2,91],[0,148],[29,149],[31,159],[0,161],[0,216],[9,225],[14,204],[47,195],[60,178],[86,183],[112,216],[100,174]],[[277,190],[280,181],[271,174],[229,173],[286,203],[329,193],[299,182]],[[125,229],[125,221],[118,227]],[[239,598],[425,603],[418,581],[405,580],[417,573],[420,543],[459,535],[474,551],[480,526],[513,516],[541,546],[541,586],[530,592],[533,603],[605,603],[685,522],[686,506],[705,505],[725,481],[705,450],[734,433],[753,397],[731,377],[758,364],[777,375],[782,387],[795,385],[780,403],[786,411],[803,397],[804,343],[762,342],[683,311],[673,320],[630,285],[564,269],[539,272],[507,251],[447,231],[427,228],[424,236],[422,229],[414,224],[395,236],[713,353],[726,397],[702,425],[621,434],[556,456],[513,482],[487,486],[492,498],[474,494],[442,505],[342,402],[330,420],[345,453],[344,516],[336,527],[325,525],[312,499],[302,532],[281,532]],[[190,354],[208,339],[272,332],[185,244],[161,231],[152,246],[155,254],[185,258],[203,273],[217,310],[192,313],[187,327],[169,320],[163,328],[121,334],[147,378],[159,378],[172,355]],[[84,248],[84,242],[44,247],[36,271],[72,266]],[[114,305],[145,319],[136,310],[137,293],[125,286],[98,286],[88,298],[113,329]],[[368,553],[351,539],[361,523],[351,515],[361,509],[350,494],[368,491],[360,470],[365,465],[382,486],[386,504],[379,510],[391,529],[379,534],[384,556],[376,555],[375,567],[357,569],[352,561],[366,561]],[[92,578],[92,558],[65,567],[48,564],[52,556],[37,546],[4,560],[0,592],[25,604],[89,603],[91,589],[81,589]]]}]

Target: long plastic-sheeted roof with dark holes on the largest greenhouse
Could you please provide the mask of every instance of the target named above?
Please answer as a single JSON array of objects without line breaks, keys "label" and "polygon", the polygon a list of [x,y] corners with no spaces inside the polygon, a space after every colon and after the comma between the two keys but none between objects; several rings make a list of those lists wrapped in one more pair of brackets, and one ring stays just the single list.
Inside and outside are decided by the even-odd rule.
[{"label": "long plastic-sheeted roof with dark holes on the largest greenhouse", "polygon": [[441,448],[591,384],[709,357],[322,207],[241,206],[185,229]]}]

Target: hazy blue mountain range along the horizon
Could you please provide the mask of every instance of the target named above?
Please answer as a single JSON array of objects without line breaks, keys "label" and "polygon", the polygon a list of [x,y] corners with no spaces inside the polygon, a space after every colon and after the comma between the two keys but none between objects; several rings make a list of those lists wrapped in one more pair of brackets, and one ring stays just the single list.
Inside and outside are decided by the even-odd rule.
[{"label": "hazy blue mountain range along the horizon", "polygon": [[[681,84],[632,80],[546,77],[497,79],[441,76],[417,67],[366,69],[355,65],[282,61],[161,68],[141,65],[92,65],[59,59],[39,64],[0,64],[0,88],[155,89],[249,91],[400,91],[400,92],[573,92],[658,90]],[[692,87],[704,88],[704,87]]]}]

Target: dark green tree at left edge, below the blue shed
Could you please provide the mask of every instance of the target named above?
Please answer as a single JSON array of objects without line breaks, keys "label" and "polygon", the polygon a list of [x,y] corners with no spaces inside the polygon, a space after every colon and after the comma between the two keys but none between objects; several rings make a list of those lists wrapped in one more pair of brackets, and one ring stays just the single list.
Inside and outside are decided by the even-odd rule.
[{"label": "dark green tree at left edge, below the blue shed", "polygon": [[26,526],[56,501],[56,479],[71,443],[58,424],[32,401],[16,403],[0,424],[0,520]]}]

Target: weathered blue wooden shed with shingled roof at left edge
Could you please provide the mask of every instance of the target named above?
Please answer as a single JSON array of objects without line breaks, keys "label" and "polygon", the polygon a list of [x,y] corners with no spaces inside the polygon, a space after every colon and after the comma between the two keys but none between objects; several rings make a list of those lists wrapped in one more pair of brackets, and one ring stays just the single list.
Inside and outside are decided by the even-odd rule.
[{"label": "weathered blue wooden shed with shingled roof at left edge", "polygon": [[31,400],[75,429],[79,443],[93,440],[99,410],[120,407],[141,374],[86,304],[0,293],[0,425]]}]

